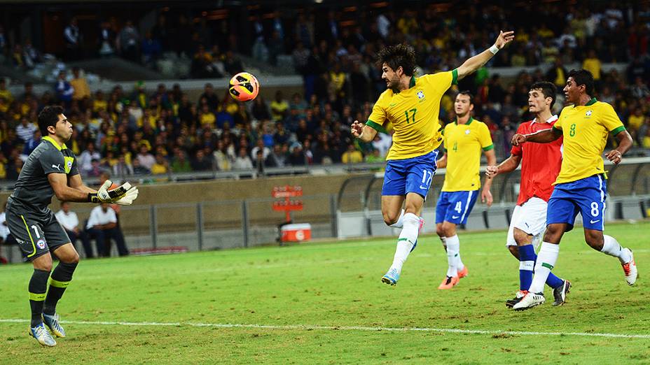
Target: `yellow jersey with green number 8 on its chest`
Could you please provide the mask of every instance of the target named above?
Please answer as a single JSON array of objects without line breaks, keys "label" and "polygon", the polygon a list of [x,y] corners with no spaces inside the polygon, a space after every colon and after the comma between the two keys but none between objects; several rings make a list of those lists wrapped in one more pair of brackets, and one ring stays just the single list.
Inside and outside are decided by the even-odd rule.
[{"label": "yellow jersey with green number 8 on its chest", "polygon": [[555,184],[570,183],[604,173],[602,151],[607,134],[625,130],[608,103],[591,99],[584,106],[567,106],[553,125],[564,136],[562,168]]}]

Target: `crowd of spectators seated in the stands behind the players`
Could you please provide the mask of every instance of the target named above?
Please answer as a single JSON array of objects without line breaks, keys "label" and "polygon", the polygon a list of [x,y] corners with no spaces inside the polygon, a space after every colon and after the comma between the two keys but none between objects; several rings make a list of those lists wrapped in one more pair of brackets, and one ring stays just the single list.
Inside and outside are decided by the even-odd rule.
[{"label": "crowd of spectators seated in the stands behind the players", "polygon": [[[646,4],[624,11],[615,3],[600,10],[561,3],[541,10],[518,8],[516,41],[499,52],[488,68],[462,80],[443,96],[441,121],[455,117],[455,93],[470,90],[475,95],[474,117],[488,124],[497,156],[505,157],[509,155],[509,137],[521,121],[530,119],[528,86],[549,80],[561,90],[566,65],[578,62],[594,74],[595,96],[614,106],[635,138],[635,146],[650,148],[648,9]],[[468,21],[463,24],[455,22],[460,17],[453,17],[449,9],[437,13],[434,8],[421,12],[405,8],[376,17],[369,12],[358,14],[356,24],[368,24],[368,29],[344,27],[340,20],[345,14],[336,11],[318,20],[314,13],[303,13],[293,27],[288,27],[279,13],[265,19],[254,15],[254,56],[272,64],[277,55],[291,50],[296,69],[305,80],[303,93],[279,91],[270,100],[258,96],[249,103],[237,103],[226,90],[215,90],[210,84],[198,100],[191,100],[179,85],[168,88],[160,84],[155,92],[146,92],[143,83],[136,83],[132,90],[115,87],[91,93],[76,69],[72,75],[62,71],[52,92],[42,95],[35,95],[26,84],[23,94],[15,97],[0,80],[0,178],[18,176],[22,161],[41,138],[34,125],[36,115],[50,103],[61,103],[74,123],[69,147],[78,156],[84,176],[99,176],[104,171],[126,176],[380,162],[391,145],[390,136],[378,134],[375,141],[364,144],[354,141],[349,129],[352,121],[367,119],[373,101],[385,90],[380,69],[373,63],[376,50],[407,42],[419,57],[418,72],[453,69],[492,44],[500,26],[506,24],[505,16],[515,11],[489,6],[483,10],[466,10],[462,18]],[[558,14],[565,16],[558,18]],[[160,17],[151,35],[165,33],[165,22],[165,17]],[[491,25],[483,29],[479,24]],[[532,24],[539,26],[533,28]],[[190,27],[186,31],[187,39],[201,34]],[[621,37],[628,41],[619,41]],[[229,40],[232,38],[223,38],[223,42]],[[161,47],[193,52],[195,44],[198,52],[207,53],[223,46],[214,42],[172,45],[165,41]],[[549,51],[549,47],[556,49]],[[628,60],[625,72],[603,66]],[[490,66],[545,62],[552,64],[546,73],[541,69],[522,71],[509,80],[490,75]],[[221,66],[226,64],[242,69],[240,62]],[[221,72],[221,66],[214,70]],[[207,72],[205,67],[199,69]],[[223,72],[235,69],[224,68]],[[558,95],[556,111],[562,99]]]}]

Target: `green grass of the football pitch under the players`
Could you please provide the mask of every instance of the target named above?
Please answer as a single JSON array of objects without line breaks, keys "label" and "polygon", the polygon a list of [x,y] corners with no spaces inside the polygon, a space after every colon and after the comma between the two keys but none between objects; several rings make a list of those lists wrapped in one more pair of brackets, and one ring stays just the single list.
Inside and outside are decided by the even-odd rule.
[{"label": "green grass of the football pitch under the players", "polygon": [[[504,231],[459,234],[469,276],[448,291],[436,289],[447,264],[433,236],[420,238],[396,287],[380,282],[394,239],[84,261],[58,306],[62,320],[179,325],[70,323],[67,338],[41,348],[26,322],[0,322],[0,363],[647,364],[650,338],[569,333],[650,335],[649,231],[650,222],[607,227],[635,250],[635,287],[625,284],[617,259],[588,248],[581,229],[567,234],[553,271],[574,284],[567,304],[551,306],[547,289],[551,301],[520,313],[504,306],[518,288],[518,262],[504,248]],[[31,273],[29,265],[0,267],[0,320],[29,317]]]}]

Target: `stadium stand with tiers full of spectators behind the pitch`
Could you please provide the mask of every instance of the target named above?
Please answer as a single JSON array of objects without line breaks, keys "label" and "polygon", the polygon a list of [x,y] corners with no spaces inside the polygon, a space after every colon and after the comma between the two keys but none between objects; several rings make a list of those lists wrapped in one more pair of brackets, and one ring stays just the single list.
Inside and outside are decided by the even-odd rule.
[{"label": "stadium stand with tiers full of spectators behind the pitch", "polygon": [[[364,144],[349,129],[355,119],[366,120],[385,89],[375,52],[406,42],[417,51],[420,74],[448,70],[485,48],[504,27],[516,29],[513,45],[443,97],[443,122],[454,117],[453,94],[471,90],[474,117],[488,124],[502,159],[518,123],[530,119],[527,86],[539,80],[562,86],[569,69],[583,67],[595,75],[598,99],[614,106],[635,138],[630,155],[650,155],[648,3],[625,11],[616,3],[586,8],[555,2],[541,10],[433,3],[418,11],[396,3],[345,5],[284,12],[264,6],[209,10],[199,3],[181,13],[157,8],[135,12],[139,17],[110,15],[95,20],[94,30],[73,13],[60,34],[48,35],[58,37],[65,50],[59,54],[45,48],[43,37],[24,38],[18,25],[0,25],[0,67],[9,76],[0,80],[0,179],[17,178],[29,146],[40,138],[22,121],[35,122],[39,109],[51,103],[62,103],[74,122],[70,147],[89,177],[102,171],[128,176],[259,170],[259,149],[266,167],[381,162],[389,136]],[[459,12],[468,20],[464,24],[456,21]],[[237,23],[242,19],[246,25]],[[146,77],[132,76],[132,88],[90,93],[88,84],[106,77],[98,74],[104,72],[96,66],[98,57],[120,70],[133,65]],[[152,82],[141,81],[157,75],[227,78],[249,66],[262,73],[289,70],[302,78],[303,92],[280,90],[236,103],[210,83],[200,92],[165,83],[150,92],[145,83]],[[82,71],[73,73],[76,67]],[[50,90],[36,93],[36,83],[48,83]],[[11,92],[17,85],[22,90]]]}]

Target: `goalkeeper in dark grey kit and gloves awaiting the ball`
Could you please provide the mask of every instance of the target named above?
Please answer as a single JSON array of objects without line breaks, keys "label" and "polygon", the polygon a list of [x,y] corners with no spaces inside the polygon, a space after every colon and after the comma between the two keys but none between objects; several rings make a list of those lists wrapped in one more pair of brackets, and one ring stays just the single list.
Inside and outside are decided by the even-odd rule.
[{"label": "goalkeeper in dark grey kit and gloves awaiting the ball", "polygon": [[[52,196],[56,195],[61,201],[130,205],[137,198],[138,189],[125,183],[108,190],[112,184],[110,180],[99,191],[83,185],[74,153],[65,145],[72,136],[72,124],[60,106],[43,108],[39,114],[39,129],[44,137],[20,171],[7,201],[6,220],[20,249],[34,265],[29,280],[29,306],[32,308],[29,334],[41,345],[54,346],[56,341],[52,334],[65,337],[56,305],[72,280],[79,255],[48,208]],[[59,259],[54,270],[50,252]]]}]

